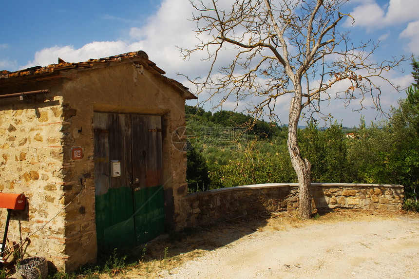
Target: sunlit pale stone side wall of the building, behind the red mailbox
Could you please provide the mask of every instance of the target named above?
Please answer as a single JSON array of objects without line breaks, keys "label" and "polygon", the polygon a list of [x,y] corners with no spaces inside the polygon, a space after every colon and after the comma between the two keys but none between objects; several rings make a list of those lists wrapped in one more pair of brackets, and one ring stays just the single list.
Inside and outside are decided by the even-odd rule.
[{"label": "sunlit pale stone side wall of the building, behind the red mailbox", "polygon": [[[65,257],[64,213],[58,214],[64,207],[61,112],[60,97],[3,100],[0,107],[0,191],[27,197],[25,210],[12,213],[8,239],[30,236],[27,256],[48,260]],[[0,209],[2,229],[6,216],[7,210]]]}]

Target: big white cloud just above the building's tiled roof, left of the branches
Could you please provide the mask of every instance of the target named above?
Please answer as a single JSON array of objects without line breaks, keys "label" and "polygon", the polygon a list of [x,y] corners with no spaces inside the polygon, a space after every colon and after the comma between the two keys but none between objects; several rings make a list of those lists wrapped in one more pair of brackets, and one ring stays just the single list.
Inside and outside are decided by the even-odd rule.
[{"label": "big white cloud just above the building's tiled roof, left of the branches", "polygon": [[[173,12],[176,11],[176,12]],[[176,72],[199,67],[197,62],[188,63],[180,57],[176,45],[183,47],[193,46],[195,34],[191,31],[194,23],[188,18],[192,16],[192,7],[189,1],[164,0],[155,15],[152,15],[143,27],[133,27],[129,37],[116,41],[94,41],[81,48],[73,46],[54,46],[42,49],[35,54],[24,68],[36,65],[46,66],[57,63],[57,57],[66,62],[86,61],[89,58],[113,56],[130,51],[143,50],[150,60],[175,77]],[[188,67],[188,68],[186,68]]]}]

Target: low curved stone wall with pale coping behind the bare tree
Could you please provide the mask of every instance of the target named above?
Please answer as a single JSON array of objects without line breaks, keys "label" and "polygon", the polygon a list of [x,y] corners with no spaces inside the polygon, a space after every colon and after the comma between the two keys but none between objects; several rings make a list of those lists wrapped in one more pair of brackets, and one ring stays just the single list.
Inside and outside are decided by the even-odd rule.
[{"label": "low curved stone wall with pale coping behind the bare tree", "polygon": [[[312,183],[312,208],[401,209],[403,186]],[[190,193],[184,227],[206,226],[261,212],[298,210],[298,184],[260,184]]]}]

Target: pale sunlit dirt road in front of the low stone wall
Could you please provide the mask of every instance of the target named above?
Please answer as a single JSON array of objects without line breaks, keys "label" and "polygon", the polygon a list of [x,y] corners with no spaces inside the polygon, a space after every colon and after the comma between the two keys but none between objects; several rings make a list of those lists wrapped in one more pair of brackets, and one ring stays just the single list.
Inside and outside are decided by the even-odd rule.
[{"label": "pale sunlit dirt road in front of the low stone wall", "polygon": [[268,223],[159,277],[419,278],[419,214],[353,220]]}]

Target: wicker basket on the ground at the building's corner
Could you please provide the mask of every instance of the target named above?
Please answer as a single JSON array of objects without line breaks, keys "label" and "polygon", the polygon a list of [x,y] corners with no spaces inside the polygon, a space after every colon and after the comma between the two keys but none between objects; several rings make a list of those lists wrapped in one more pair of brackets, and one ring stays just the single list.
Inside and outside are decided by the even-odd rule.
[{"label": "wicker basket on the ground at the building's corner", "polygon": [[19,262],[18,272],[27,279],[47,279],[48,263],[45,257],[29,257]]}]

